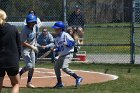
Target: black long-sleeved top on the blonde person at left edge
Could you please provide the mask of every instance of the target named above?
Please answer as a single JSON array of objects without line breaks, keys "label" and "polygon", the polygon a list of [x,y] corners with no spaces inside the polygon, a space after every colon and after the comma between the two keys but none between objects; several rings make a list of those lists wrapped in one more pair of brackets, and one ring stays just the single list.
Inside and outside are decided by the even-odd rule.
[{"label": "black long-sleeved top on the blonde person at left edge", "polygon": [[19,66],[21,43],[17,28],[8,23],[0,26],[0,67]]}]

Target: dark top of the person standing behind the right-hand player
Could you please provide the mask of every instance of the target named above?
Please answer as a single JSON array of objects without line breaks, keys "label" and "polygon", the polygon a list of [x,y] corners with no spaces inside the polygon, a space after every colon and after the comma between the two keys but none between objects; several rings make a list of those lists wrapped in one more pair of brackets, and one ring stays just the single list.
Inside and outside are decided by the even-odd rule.
[{"label": "dark top of the person standing behind the right-hand player", "polygon": [[84,24],[85,24],[85,19],[84,19],[84,16],[81,13],[76,14],[75,12],[73,12],[68,19],[68,25],[69,26],[84,27]]}]

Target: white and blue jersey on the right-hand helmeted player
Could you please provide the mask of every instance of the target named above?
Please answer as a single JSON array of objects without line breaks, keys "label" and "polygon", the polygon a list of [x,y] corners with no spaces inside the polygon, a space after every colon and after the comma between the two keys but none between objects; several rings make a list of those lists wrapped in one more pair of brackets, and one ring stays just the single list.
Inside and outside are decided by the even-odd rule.
[{"label": "white and blue jersey on the right-hand helmeted player", "polygon": [[70,52],[74,52],[74,39],[66,32],[62,31],[55,38],[56,50],[60,56],[66,55]]}]

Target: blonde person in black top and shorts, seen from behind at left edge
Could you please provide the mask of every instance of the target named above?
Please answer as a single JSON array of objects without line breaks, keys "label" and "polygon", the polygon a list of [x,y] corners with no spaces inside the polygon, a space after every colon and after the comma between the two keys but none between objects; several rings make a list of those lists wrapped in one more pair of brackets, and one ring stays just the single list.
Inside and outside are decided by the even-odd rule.
[{"label": "blonde person in black top and shorts, seen from behind at left edge", "polygon": [[0,93],[4,76],[10,78],[11,93],[19,93],[20,36],[15,26],[6,23],[7,15],[0,9]]}]

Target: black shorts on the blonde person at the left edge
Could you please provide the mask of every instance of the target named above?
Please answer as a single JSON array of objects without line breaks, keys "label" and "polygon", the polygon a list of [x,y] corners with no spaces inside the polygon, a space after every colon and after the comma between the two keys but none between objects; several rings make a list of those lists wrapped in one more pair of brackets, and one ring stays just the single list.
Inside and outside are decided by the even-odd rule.
[{"label": "black shorts on the blonde person at the left edge", "polygon": [[19,73],[19,67],[0,68],[0,77],[4,77],[6,72],[8,76],[16,76]]}]

